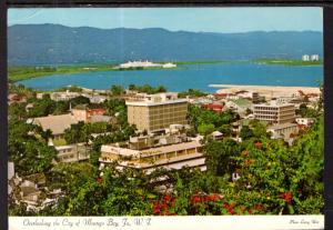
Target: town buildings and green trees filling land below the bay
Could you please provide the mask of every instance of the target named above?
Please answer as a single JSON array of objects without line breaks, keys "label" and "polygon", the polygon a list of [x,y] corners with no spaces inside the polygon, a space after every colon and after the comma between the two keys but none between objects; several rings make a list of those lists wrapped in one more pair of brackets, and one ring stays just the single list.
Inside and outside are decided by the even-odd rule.
[{"label": "town buildings and green trees filling land below the bay", "polygon": [[[322,126],[322,88],[212,87],[219,88],[215,93],[170,92],[149,84],[109,90],[69,86],[48,92],[10,84],[9,210],[12,214],[81,216],[178,214],[180,210],[185,214],[294,213],[292,202],[303,198],[295,191],[317,192],[311,193],[300,178],[306,173],[285,170],[291,170],[287,163],[295,163],[289,158],[319,157],[311,152],[303,159],[297,151],[320,151],[320,143],[306,144]],[[266,167],[280,176],[270,176]],[[185,191],[181,188],[186,178],[196,178],[198,184],[188,182],[190,204],[180,208],[176,199]],[[273,178],[276,184],[270,186]],[[283,187],[290,178],[297,182]],[[129,200],[118,194],[111,204],[104,203],[117,192],[114,181],[130,187],[131,181],[141,184],[143,180],[148,180],[144,189],[133,187]],[[220,182],[214,186],[214,181]],[[240,201],[238,207],[226,201],[223,191],[235,188],[234,194],[253,192],[254,203]],[[262,190],[270,192],[264,198],[269,200],[260,198]],[[100,200],[93,200],[92,193]],[[93,206],[99,208],[91,210]],[[321,203],[309,209],[316,212],[317,207]]]}]

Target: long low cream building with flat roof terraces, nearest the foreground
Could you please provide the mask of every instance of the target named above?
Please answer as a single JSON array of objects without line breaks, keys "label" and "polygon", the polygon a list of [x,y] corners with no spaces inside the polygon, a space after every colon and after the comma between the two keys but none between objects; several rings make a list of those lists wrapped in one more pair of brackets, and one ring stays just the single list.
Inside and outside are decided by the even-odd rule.
[{"label": "long low cream building with flat roof terraces, nearest the foreground", "polygon": [[186,137],[137,137],[127,143],[101,147],[101,169],[118,162],[120,169],[133,168],[151,173],[157,168],[181,169],[182,167],[206,170],[202,144]]}]

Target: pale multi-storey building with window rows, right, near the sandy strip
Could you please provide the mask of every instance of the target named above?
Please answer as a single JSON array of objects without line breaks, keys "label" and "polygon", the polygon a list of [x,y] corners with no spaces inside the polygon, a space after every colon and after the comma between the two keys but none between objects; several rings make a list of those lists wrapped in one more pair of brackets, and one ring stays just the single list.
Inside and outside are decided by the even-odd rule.
[{"label": "pale multi-storey building with window rows, right, near the sandy strip", "polygon": [[272,124],[287,123],[295,121],[295,106],[290,103],[261,103],[253,106],[254,119],[268,121]]}]

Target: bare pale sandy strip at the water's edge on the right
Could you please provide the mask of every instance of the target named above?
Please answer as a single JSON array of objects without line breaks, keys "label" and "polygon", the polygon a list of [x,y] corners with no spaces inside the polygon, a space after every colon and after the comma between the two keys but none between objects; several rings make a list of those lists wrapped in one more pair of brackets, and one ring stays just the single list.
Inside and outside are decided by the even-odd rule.
[{"label": "bare pale sandy strip at the water's edge on the right", "polygon": [[240,84],[210,84],[213,88],[223,88],[216,90],[218,93],[234,93],[241,90],[259,92],[268,99],[275,97],[290,97],[302,91],[303,93],[320,93],[319,87],[276,87],[276,86],[240,86]]}]

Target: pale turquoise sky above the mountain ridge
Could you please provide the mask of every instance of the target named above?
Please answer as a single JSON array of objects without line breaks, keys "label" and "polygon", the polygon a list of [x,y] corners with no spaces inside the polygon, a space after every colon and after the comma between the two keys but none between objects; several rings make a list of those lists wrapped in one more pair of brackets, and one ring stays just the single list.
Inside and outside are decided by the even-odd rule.
[{"label": "pale turquoise sky above the mountain ridge", "polygon": [[164,28],[171,31],[323,31],[322,8],[29,8],[9,9],[8,26]]}]

